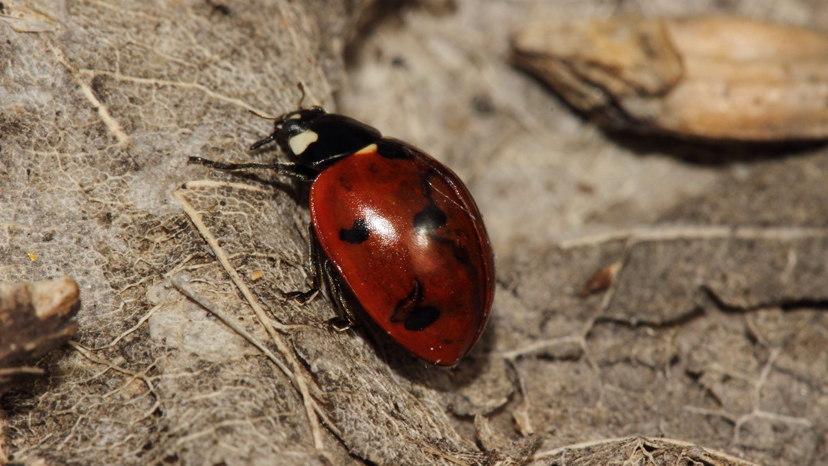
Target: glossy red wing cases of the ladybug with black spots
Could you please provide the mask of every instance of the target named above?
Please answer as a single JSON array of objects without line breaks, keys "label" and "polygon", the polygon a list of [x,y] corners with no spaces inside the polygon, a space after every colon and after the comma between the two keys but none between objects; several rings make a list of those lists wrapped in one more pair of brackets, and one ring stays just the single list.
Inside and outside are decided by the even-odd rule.
[{"label": "glossy red wing cases of the ladybug with black spots", "polygon": [[493,297],[492,251],[454,172],[383,139],[320,172],[310,219],[362,308],[402,347],[452,365],[477,341]]}]

